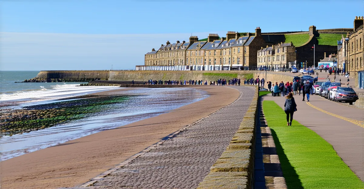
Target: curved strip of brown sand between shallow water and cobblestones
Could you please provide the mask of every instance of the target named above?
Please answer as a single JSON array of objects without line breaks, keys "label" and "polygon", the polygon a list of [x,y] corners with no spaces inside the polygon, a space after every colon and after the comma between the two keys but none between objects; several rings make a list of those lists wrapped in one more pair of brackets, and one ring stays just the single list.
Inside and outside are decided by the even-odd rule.
[{"label": "curved strip of brown sand between shallow water and cobblestones", "polygon": [[[228,87],[194,88],[210,96],[169,113],[1,161],[2,188],[52,189],[83,184],[239,96],[236,89]],[[117,94],[118,90],[126,89],[97,94]]]}]

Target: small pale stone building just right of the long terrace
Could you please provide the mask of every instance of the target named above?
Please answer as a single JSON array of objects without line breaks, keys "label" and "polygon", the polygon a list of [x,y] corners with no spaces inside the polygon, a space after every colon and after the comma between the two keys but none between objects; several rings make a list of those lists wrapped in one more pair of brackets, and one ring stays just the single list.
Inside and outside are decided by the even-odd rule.
[{"label": "small pale stone building just right of the long terrace", "polygon": [[261,48],[257,53],[258,68],[288,68],[289,62],[296,61],[295,47],[292,43],[278,43],[272,47]]}]

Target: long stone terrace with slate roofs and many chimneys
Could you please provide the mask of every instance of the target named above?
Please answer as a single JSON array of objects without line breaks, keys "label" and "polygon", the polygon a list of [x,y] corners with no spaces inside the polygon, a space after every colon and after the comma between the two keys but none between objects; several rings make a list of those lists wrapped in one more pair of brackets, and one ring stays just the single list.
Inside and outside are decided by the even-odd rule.
[{"label": "long stone terrace with slate roofs and many chimneys", "polygon": [[209,34],[207,41],[198,41],[191,36],[189,42],[161,45],[158,51],[145,55],[145,66],[190,66],[191,70],[242,70],[256,67],[256,51],[262,45],[270,44],[264,40],[261,29],[254,35],[241,36],[238,32],[227,32],[226,38]]}]

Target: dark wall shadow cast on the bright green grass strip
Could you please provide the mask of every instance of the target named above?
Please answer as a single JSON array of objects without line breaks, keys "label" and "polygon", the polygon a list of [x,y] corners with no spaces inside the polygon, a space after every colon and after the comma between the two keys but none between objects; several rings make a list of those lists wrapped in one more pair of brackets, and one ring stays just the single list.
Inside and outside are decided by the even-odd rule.
[{"label": "dark wall shadow cast on the bright green grass strip", "polygon": [[274,129],[270,128],[272,131],[272,136],[274,139],[274,143],[276,144],[276,150],[279,157],[279,160],[281,162],[281,167],[283,171],[283,177],[286,180],[287,188],[289,189],[304,189],[302,186],[302,182],[300,178],[298,178],[298,175],[296,173],[296,170],[292,167],[290,164],[286,154],[283,151],[283,148],[281,146],[281,143],[277,137],[276,132]]}]

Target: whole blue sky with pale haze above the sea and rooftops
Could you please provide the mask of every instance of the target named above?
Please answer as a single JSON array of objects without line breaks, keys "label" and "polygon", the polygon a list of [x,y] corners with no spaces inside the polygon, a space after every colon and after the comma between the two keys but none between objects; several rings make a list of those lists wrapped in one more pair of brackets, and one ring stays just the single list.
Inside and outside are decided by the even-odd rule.
[{"label": "whole blue sky with pale haze above the sea and rooftops", "polygon": [[[350,11],[345,11],[345,4]],[[352,28],[363,0],[0,0],[0,70],[135,69],[166,41]]]}]

